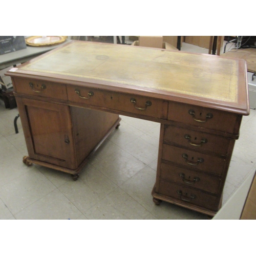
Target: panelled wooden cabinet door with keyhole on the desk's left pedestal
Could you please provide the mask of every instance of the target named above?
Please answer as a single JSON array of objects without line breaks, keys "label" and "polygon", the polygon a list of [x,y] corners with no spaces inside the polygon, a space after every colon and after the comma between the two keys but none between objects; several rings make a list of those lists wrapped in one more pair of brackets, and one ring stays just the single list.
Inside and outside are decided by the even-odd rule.
[{"label": "panelled wooden cabinet door with keyhole on the desk's left pedestal", "polygon": [[[19,110],[29,157],[35,160],[75,169],[76,157],[72,135],[70,106],[19,99]],[[22,105],[20,105],[20,103]]]}]

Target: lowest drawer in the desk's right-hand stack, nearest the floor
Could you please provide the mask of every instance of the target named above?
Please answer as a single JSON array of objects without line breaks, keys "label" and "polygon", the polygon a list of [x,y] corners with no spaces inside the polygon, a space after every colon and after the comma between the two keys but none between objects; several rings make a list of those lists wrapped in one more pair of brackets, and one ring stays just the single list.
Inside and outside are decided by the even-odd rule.
[{"label": "lowest drawer in the desk's right-hand stack, nearest the floor", "polygon": [[212,211],[217,211],[219,209],[219,201],[217,197],[191,187],[180,186],[179,184],[167,182],[162,179],[159,183],[159,191],[156,192],[164,196],[178,199],[183,203],[191,203]]}]

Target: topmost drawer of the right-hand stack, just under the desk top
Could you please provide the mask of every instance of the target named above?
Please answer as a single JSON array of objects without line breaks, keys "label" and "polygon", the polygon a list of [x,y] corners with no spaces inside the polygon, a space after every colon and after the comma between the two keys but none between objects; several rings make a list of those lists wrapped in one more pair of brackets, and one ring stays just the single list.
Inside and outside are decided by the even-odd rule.
[{"label": "topmost drawer of the right-hand stack, just under the desk top", "polygon": [[241,118],[237,114],[200,106],[169,102],[168,120],[210,130],[238,134]]}]

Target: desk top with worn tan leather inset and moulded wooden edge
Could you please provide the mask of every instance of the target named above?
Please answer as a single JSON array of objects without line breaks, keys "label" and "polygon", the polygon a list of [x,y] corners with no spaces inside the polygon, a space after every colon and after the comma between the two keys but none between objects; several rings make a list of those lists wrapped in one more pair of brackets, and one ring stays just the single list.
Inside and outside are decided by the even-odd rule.
[{"label": "desk top with worn tan leather inset and moulded wooden edge", "polygon": [[249,113],[242,59],[72,41],[12,71],[7,74]]}]

